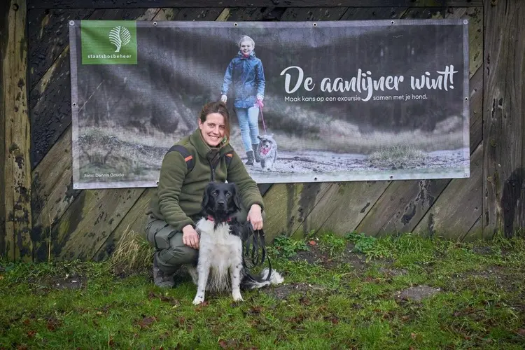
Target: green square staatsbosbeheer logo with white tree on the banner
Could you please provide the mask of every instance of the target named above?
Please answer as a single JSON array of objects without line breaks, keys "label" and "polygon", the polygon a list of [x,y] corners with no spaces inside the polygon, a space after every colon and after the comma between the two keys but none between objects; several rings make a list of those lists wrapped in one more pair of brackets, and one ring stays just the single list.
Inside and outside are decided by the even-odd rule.
[{"label": "green square staatsbosbeheer logo with white tree on the banner", "polygon": [[80,21],[82,64],[137,64],[136,21]]}]

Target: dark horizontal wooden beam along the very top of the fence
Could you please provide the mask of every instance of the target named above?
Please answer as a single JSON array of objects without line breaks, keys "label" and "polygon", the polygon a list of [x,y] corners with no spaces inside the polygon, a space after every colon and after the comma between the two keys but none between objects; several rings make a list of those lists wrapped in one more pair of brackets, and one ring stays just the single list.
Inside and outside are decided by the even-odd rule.
[{"label": "dark horizontal wooden beam along the very top of the fence", "polygon": [[[213,0],[28,0],[29,8],[146,8],[156,7],[212,7]],[[379,6],[482,6],[482,0],[249,0],[241,3],[237,0],[223,0],[224,7],[379,7]]]}]

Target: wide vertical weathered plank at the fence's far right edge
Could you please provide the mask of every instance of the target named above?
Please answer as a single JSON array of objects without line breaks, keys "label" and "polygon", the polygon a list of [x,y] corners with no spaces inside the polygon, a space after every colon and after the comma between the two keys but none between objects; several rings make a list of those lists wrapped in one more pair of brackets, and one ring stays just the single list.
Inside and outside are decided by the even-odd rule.
[{"label": "wide vertical weathered plank at the fence's far right edge", "polygon": [[484,237],[525,227],[525,6],[484,1]]}]

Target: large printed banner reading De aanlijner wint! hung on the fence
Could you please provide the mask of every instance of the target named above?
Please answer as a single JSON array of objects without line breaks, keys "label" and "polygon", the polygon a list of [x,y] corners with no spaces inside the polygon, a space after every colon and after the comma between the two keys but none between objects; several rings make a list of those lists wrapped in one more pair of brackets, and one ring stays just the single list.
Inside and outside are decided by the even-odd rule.
[{"label": "large printed banner reading De aanlijner wint! hung on the fence", "polygon": [[221,99],[258,183],[470,176],[466,20],[69,28],[74,188],[156,186]]}]

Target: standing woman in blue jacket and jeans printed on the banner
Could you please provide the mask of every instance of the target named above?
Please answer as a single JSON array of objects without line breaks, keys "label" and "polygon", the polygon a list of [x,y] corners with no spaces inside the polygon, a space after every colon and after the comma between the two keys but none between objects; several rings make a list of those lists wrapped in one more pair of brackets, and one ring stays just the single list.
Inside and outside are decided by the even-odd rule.
[{"label": "standing woman in blue jacket and jeans printed on the banner", "polygon": [[227,101],[227,94],[232,90],[235,111],[239,119],[242,142],[248,156],[246,165],[260,162],[257,152],[259,146],[259,108],[265,98],[265,72],[262,62],[255,57],[255,42],[249,36],[239,39],[239,52],[224,74],[221,101]]}]

